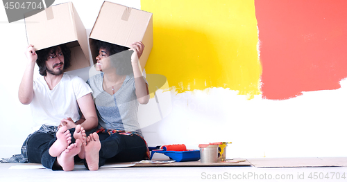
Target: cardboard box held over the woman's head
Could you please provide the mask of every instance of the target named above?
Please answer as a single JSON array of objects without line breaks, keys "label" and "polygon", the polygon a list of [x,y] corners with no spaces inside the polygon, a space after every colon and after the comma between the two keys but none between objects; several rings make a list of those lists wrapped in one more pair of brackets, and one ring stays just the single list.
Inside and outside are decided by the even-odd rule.
[{"label": "cardboard box held over the woman's head", "polygon": [[94,64],[99,55],[93,43],[95,39],[128,48],[134,42],[142,42],[144,52],[139,63],[143,70],[153,47],[152,13],[104,1],[90,33],[90,51]]}]

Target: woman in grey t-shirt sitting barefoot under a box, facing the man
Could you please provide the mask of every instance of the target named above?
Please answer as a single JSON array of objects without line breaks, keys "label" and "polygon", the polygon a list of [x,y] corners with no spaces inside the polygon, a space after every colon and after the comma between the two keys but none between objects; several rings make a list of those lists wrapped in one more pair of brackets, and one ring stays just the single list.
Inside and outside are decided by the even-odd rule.
[{"label": "woman in grey t-shirt sitting barefoot under a box, facing the man", "polygon": [[149,102],[148,85],[139,69],[144,44],[135,42],[130,49],[107,42],[96,45],[95,68],[101,73],[87,84],[93,91],[99,127],[85,146],[89,170],[106,162],[141,161],[149,154],[137,122],[138,105]]}]

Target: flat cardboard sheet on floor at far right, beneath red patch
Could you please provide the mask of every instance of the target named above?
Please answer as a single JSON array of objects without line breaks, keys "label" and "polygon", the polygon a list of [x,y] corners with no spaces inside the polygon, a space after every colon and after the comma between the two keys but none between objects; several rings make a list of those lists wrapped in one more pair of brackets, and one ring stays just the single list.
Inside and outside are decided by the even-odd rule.
[{"label": "flat cardboard sheet on floor at far right, beneath red patch", "polygon": [[258,168],[265,167],[347,167],[346,157],[325,158],[247,158]]}]

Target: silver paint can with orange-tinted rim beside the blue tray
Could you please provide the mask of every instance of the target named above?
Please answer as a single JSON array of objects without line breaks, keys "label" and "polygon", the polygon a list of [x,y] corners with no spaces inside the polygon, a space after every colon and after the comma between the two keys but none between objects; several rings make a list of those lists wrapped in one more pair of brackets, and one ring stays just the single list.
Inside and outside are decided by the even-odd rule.
[{"label": "silver paint can with orange-tinted rim beside the blue tray", "polygon": [[200,148],[201,163],[217,163],[219,145],[200,144],[198,147]]}]

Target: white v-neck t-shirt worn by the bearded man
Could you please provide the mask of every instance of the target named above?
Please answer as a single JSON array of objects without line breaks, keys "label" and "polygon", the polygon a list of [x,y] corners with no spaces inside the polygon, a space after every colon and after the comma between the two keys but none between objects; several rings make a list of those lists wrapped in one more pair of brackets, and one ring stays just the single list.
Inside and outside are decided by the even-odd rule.
[{"label": "white v-neck t-shirt worn by the bearded man", "polygon": [[31,113],[35,123],[34,129],[39,129],[41,125],[58,126],[64,118],[79,120],[81,111],[77,100],[92,93],[92,89],[82,78],[66,73],[52,90],[43,76],[34,80],[33,89]]}]

